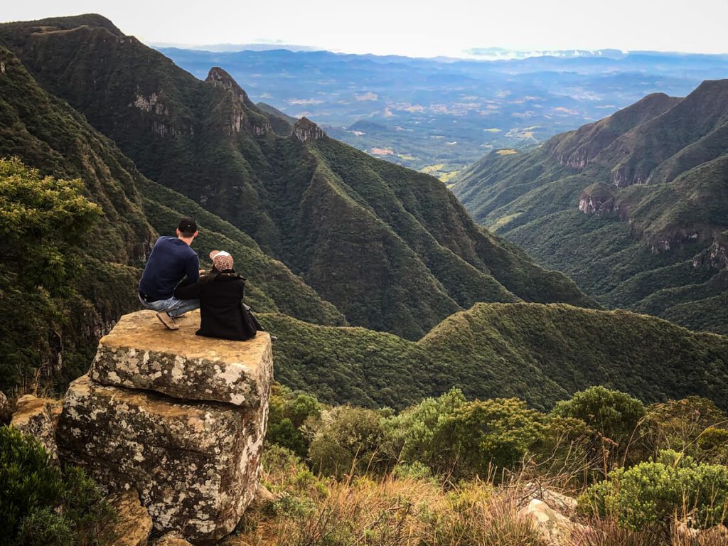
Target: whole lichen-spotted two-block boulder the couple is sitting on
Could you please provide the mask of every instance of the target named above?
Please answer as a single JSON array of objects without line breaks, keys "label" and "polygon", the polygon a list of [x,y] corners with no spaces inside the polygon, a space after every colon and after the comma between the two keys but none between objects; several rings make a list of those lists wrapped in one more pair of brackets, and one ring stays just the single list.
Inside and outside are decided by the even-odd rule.
[{"label": "whole lichen-spotted two-block boulder the couple is sitting on", "polygon": [[178,323],[122,317],[68,388],[56,437],[65,462],[110,491],[137,491],[156,531],[205,544],[232,531],[256,493],[271,342],[195,336],[199,312]]}]

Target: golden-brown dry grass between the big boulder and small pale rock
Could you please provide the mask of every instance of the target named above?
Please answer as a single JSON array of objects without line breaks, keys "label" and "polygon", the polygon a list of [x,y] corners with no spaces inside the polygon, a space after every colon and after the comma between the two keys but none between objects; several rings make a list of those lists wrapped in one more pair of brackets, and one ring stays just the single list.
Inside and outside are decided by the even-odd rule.
[{"label": "golden-brown dry grass between the big boulder and small pale rock", "polygon": [[264,475],[272,490],[286,492],[249,510],[228,546],[546,546],[518,515],[515,497],[484,483],[446,491],[427,478],[336,481],[290,470],[293,480]]}]

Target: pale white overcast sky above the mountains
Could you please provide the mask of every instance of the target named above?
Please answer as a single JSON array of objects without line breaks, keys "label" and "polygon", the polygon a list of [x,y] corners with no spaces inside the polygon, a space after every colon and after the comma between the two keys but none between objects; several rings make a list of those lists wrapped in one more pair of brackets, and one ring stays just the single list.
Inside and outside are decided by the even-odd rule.
[{"label": "pale white overcast sky above the mountains", "polygon": [[352,53],[513,50],[728,53],[728,0],[32,0],[0,20],[100,13],[146,43],[298,44]]}]

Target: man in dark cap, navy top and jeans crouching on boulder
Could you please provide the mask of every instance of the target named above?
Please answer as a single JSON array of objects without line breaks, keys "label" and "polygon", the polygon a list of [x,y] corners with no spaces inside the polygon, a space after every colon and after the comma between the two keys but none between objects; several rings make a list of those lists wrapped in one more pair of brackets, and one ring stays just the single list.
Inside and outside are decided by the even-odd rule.
[{"label": "man in dark cap, navy top and jeans crouching on boulder", "polygon": [[157,311],[157,318],[170,330],[179,326],[174,317],[199,309],[199,299],[175,298],[181,282],[189,284],[199,277],[199,258],[190,248],[197,237],[197,223],[189,216],[177,226],[177,237],[159,237],[151,249],[149,260],[139,281],[139,301]]}]

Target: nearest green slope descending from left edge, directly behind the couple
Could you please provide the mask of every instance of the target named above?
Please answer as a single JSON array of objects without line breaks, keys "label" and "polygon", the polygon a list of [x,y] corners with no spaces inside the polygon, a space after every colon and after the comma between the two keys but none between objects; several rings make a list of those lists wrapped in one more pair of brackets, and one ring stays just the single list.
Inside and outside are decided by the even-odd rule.
[{"label": "nearest green slope descending from left edge, directly behind the couple", "polygon": [[[42,282],[28,288],[19,285],[22,277],[17,273],[22,274],[23,264],[7,253],[0,258],[0,272],[14,274],[2,276],[0,283],[1,389],[15,387],[38,370],[41,377],[61,371],[66,378],[85,370],[98,336],[122,313],[138,308],[138,276],[157,233],[172,232],[185,214],[199,221],[201,234],[194,248],[200,256],[205,258],[213,248],[229,248],[239,258],[249,280],[248,299],[256,309],[315,323],[346,323],[333,305],[239,229],[145,178],[84,116],[44,91],[4,47],[0,66],[0,157],[17,157],[41,175],[80,178],[86,197],[103,210],[102,218],[76,242],[73,252],[82,269],[55,312],[48,300],[55,295],[41,298]],[[12,202],[0,204],[3,221],[12,221]]]}]

